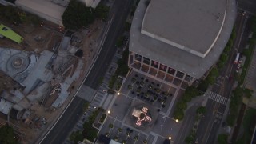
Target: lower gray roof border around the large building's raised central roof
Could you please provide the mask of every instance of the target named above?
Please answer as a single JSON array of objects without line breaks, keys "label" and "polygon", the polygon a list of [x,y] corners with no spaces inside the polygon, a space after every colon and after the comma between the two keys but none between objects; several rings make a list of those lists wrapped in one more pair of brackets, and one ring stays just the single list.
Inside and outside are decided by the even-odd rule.
[{"label": "lower gray roof border around the large building's raised central roof", "polygon": [[[151,2],[153,3],[150,3],[150,5],[154,4],[154,1],[155,0],[151,0]],[[174,0],[170,0],[170,2],[173,2],[173,1]],[[211,2],[209,0],[207,2],[210,2],[213,5],[212,7],[218,10],[219,0],[216,0],[216,1],[217,2],[215,1]],[[189,1],[186,1],[186,2],[188,2],[188,4],[191,3]],[[198,2],[201,2],[201,1],[196,1],[196,3]],[[186,74],[190,74],[190,76],[193,76],[194,78],[201,78],[202,75],[206,72],[206,70],[209,70],[210,66],[212,66],[218,60],[219,55],[222,53],[223,48],[226,46],[226,42],[230,38],[230,34],[232,32],[234,20],[236,18],[235,1],[230,0],[225,2],[229,2],[229,3],[222,4],[226,6],[226,13],[225,13],[226,17],[224,19],[222,31],[220,32],[218,39],[214,43],[213,48],[210,50],[209,54],[206,54],[205,58],[199,57],[198,55],[195,55],[195,54],[191,54],[186,50],[178,49],[176,46],[167,44],[166,42],[159,41],[157,38],[152,38],[146,34],[142,34],[141,33],[142,20],[144,18],[144,15],[146,14],[146,4],[145,4],[146,0],[141,0],[138,4],[137,10],[135,11],[131,30],[130,30],[129,50],[133,51],[134,53],[141,54],[154,61],[161,62],[166,66],[170,66]],[[185,4],[182,4],[182,5],[185,5]],[[202,4],[200,4],[200,6],[202,6]],[[159,8],[170,9],[167,6],[162,6]],[[175,9],[178,10],[178,8],[175,8]],[[186,10],[186,9],[182,9],[182,10]],[[206,9],[202,9],[202,10],[206,10]],[[175,14],[172,14],[172,17],[175,17],[175,16],[176,16]],[[193,17],[193,15],[191,15],[190,17]],[[152,21],[154,21],[154,19],[152,19]],[[190,23],[186,23],[186,25],[189,25],[189,24]],[[167,29],[170,29],[170,26],[166,26],[162,28],[162,30],[167,30]],[[197,33],[197,32],[200,33],[200,29],[194,30],[194,33]],[[216,33],[218,33],[218,29],[216,30]],[[206,36],[200,35],[200,37],[202,39],[197,39],[196,42],[209,41],[208,38],[206,38]],[[183,41],[190,42],[191,39],[190,38],[183,39]],[[213,41],[213,39],[211,39],[211,41]]]}]

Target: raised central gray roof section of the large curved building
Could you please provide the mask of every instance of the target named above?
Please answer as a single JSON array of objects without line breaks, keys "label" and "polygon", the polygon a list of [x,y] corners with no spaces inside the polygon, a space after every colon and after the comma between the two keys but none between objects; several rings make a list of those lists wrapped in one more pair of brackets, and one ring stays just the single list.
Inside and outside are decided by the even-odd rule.
[{"label": "raised central gray roof section of the large curved building", "polygon": [[142,34],[205,57],[226,16],[226,1],[151,0]]}]

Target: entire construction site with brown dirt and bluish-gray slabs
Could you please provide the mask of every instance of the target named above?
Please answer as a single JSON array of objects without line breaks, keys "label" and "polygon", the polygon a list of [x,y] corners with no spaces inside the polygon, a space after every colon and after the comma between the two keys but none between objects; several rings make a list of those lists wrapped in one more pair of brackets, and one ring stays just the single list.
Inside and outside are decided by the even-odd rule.
[{"label": "entire construction site with brown dirt and bluish-gray slabs", "polygon": [[106,22],[76,32],[53,23],[0,24],[22,38],[18,43],[0,34],[0,122],[14,127],[19,142],[34,143],[82,85]]}]

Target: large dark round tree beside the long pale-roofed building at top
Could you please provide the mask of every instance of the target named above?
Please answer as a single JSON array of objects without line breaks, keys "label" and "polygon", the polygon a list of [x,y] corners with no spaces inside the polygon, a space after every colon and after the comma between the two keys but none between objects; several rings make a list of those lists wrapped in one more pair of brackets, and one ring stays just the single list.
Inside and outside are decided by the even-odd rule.
[{"label": "large dark round tree beside the long pale-roofed building at top", "polygon": [[71,0],[62,15],[65,29],[78,30],[92,22],[94,22],[94,9],[77,0]]}]

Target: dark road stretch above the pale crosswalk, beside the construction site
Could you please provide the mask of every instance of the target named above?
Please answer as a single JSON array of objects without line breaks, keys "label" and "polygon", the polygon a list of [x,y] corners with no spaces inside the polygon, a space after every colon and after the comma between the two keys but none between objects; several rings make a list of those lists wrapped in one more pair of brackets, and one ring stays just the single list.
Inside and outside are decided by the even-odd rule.
[{"label": "dark road stretch above the pale crosswalk, beside the construction site", "polygon": [[122,34],[123,26],[129,10],[132,6],[133,0],[116,0],[114,2],[113,11],[110,16],[113,15],[113,22],[110,26],[109,33],[106,36],[106,41],[102,47],[101,53],[98,55],[94,67],[91,70],[86,82],[86,86],[90,86],[94,90],[98,88],[100,79],[105,75],[114,53],[117,50],[115,42],[120,34]]}]

